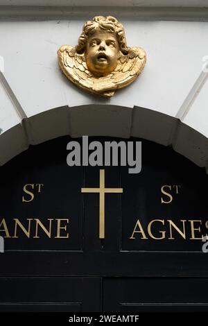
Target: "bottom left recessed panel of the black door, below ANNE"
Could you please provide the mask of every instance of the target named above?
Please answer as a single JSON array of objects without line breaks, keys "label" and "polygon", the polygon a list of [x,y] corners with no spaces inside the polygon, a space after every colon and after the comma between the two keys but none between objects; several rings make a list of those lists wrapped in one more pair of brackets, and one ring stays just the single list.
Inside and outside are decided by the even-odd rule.
[{"label": "bottom left recessed panel of the black door, below ANNE", "polygon": [[101,310],[98,277],[1,277],[0,289],[0,311]]}]

